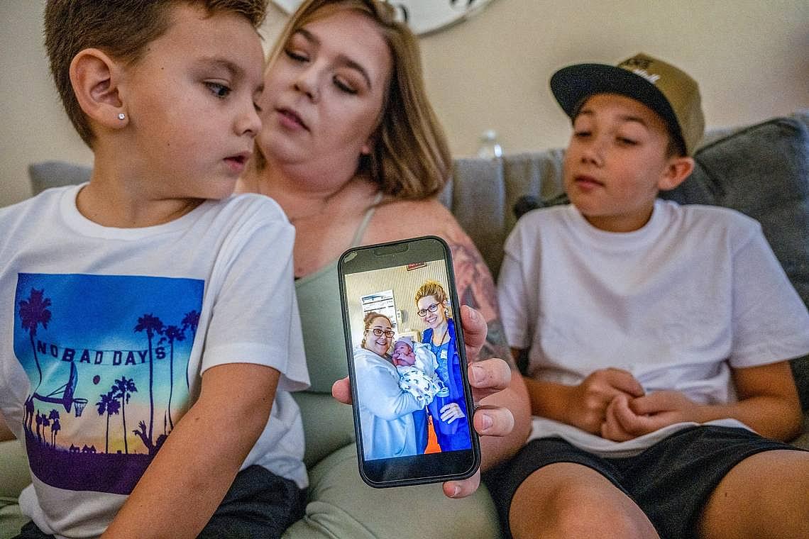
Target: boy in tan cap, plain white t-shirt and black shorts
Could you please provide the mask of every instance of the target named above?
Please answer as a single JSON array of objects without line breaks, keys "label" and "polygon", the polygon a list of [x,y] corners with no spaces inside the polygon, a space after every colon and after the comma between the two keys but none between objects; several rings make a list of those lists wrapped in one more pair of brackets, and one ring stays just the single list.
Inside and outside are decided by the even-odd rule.
[{"label": "boy in tan cap, plain white t-shirt and black shorts", "polygon": [[[525,215],[498,293],[532,436],[487,482],[513,537],[809,537],[786,360],[809,315],[760,225],[657,200],[693,170],[697,83],[645,54],[561,69],[572,204]],[[760,434],[756,434],[758,432]]]}]

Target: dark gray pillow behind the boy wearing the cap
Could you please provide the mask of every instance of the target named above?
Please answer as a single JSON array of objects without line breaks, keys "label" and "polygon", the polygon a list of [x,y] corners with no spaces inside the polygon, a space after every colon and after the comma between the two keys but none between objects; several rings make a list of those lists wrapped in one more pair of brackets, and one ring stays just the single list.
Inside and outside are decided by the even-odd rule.
[{"label": "dark gray pillow behind the boy wearing the cap", "polygon": [[[661,196],[680,204],[733,208],[761,223],[786,275],[809,305],[809,132],[774,118],[703,146],[693,174]],[[809,410],[809,356],[791,361]]]}]

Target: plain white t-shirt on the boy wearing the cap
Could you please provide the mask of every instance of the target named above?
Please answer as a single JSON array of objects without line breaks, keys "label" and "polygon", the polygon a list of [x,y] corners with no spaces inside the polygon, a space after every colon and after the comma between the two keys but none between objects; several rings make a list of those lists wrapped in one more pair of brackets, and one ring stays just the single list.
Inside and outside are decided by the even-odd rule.
[{"label": "plain white t-shirt on the boy wearing the cap", "polygon": [[[520,219],[505,251],[503,326],[511,347],[531,349],[536,379],[578,385],[615,367],[647,393],[732,402],[731,367],[809,352],[807,308],[760,225],[727,208],[658,200],[624,234],[596,229],[572,204],[544,208]],[[533,436],[609,455],[661,437],[616,444],[549,419],[535,419]]]}]

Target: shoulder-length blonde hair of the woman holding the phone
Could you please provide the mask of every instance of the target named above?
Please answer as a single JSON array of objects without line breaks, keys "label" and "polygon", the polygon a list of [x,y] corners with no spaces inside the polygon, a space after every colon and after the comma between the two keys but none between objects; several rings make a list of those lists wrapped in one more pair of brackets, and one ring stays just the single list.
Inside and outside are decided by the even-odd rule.
[{"label": "shoulder-length blonde hair of the woman holding the phone", "polygon": [[[371,154],[359,158],[357,174],[367,175],[380,191],[398,200],[420,200],[441,192],[450,177],[452,157],[438,117],[427,99],[416,36],[396,20],[396,11],[380,0],[307,0],[290,17],[269,55],[268,69],[295,32],[339,11],[357,11],[379,29],[392,57],[392,72]],[[256,167],[264,160],[256,152]]]}]

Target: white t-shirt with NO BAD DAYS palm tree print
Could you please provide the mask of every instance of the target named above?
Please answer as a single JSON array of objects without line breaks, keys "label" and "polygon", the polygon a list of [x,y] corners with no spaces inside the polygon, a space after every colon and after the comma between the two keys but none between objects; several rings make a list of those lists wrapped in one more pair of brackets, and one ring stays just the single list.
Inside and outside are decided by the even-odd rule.
[{"label": "white t-shirt with NO BAD DAYS palm tree print", "polygon": [[289,392],[309,378],[281,208],[233,196],[116,229],[78,213],[80,188],[0,209],[0,410],[32,469],[23,513],[45,533],[102,533],[196,400],[201,373],[233,362],[282,373],[243,468],[306,486]]}]

